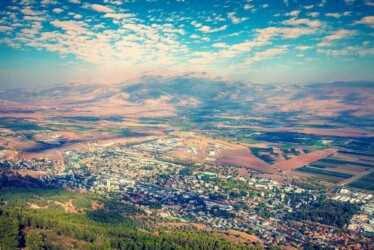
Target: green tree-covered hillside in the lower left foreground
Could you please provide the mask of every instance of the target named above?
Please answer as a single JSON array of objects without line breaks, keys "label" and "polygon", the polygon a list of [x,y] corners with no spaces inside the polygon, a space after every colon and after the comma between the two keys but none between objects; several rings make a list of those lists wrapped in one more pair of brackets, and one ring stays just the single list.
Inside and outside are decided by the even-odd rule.
[{"label": "green tree-covered hillside in the lower left foreground", "polygon": [[[192,229],[159,232],[149,218],[141,218],[143,212],[138,208],[92,194],[5,188],[0,199],[1,249],[55,249],[56,245],[65,249],[253,249]],[[93,199],[101,202],[102,208],[88,209]],[[56,201],[68,200],[87,208],[86,212],[50,207]],[[29,206],[40,202],[47,206],[40,209]]]}]

